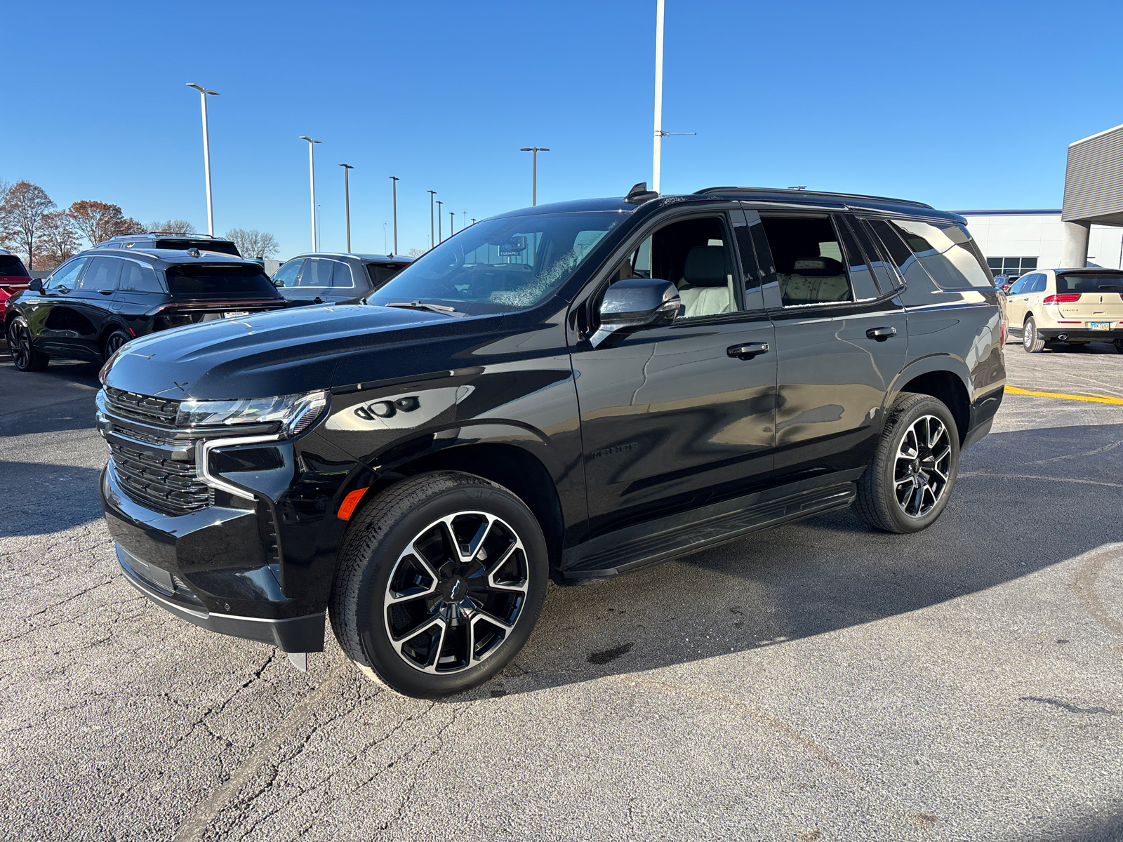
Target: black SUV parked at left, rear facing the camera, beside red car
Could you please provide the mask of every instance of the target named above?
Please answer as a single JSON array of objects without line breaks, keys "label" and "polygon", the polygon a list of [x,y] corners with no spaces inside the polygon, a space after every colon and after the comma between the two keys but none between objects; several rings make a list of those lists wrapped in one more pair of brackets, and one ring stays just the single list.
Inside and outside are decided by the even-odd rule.
[{"label": "black SUV parked at left, rear facing the camera, beside red car", "polygon": [[285,306],[261,265],[221,253],[94,248],[4,302],[16,368],[42,372],[53,356],[100,363],[167,328]]}]

